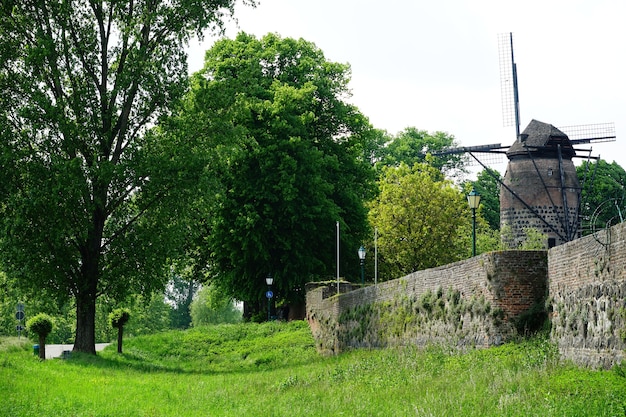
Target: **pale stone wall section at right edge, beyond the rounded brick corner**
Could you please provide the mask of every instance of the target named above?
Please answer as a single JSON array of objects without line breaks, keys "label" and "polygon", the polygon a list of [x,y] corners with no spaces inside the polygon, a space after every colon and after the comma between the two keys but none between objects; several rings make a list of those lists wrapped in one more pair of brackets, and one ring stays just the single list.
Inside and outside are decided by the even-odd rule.
[{"label": "pale stone wall section at right edge, beyond the rounded brick corner", "polygon": [[565,359],[608,368],[624,358],[626,225],[550,249],[552,339]]}]

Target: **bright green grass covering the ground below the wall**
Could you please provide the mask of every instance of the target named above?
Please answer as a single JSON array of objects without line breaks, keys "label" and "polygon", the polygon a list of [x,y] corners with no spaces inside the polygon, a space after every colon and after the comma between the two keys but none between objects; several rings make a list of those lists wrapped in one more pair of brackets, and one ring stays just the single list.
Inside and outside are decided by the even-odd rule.
[{"label": "bright green grass covering the ground below the wall", "polygon": [[0,342],[0,416],[625,416],[622,368],[558,362],[542,339],[315,352],[306,323],[223,325],[40,362]]}]

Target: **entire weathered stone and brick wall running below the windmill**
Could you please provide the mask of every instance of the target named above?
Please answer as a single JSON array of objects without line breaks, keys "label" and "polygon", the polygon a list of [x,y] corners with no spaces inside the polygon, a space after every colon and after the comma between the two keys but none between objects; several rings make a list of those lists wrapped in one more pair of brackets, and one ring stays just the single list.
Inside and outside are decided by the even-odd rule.
[{"label": "entire weathered stone and brick wall running below the windmill", "polygon": [[310,284],[307,319],[322,352],[442,343],[488,347],[549,312],[561,356],[610,367],[626,345],[626,226],[549,251],[503,251],[352,290]]}]

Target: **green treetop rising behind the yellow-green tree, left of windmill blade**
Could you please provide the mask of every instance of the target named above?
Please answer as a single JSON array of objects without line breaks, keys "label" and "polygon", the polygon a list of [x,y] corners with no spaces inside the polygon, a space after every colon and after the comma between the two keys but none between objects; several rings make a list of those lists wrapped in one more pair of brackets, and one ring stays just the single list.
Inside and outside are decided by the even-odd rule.
[{"label": "green treetop rising behind the yellow-green tree, left of windmill blade", "polygon": [[454,136],[445,132],[428,133],[415,127],[407,127],[402,132],[389,138],[381,148],[378,167],[397,167],[401,163],[413,166],[415,163],[428,163],[437,168],[444,176],[455,178],[466,173],[465,154],[453,153],[432,155],[456,148],[458,142]]}]

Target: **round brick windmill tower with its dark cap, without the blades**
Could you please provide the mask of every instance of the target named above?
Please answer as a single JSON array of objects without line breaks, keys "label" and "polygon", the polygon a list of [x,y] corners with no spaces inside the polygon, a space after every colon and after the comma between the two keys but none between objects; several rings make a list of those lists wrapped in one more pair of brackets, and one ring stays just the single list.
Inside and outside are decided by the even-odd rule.
[{"label": "round brick windmill tower with its dark cap, without the blades", "polygon": [[568,136],[556,127],[532,120],[506,152],[509,163],[500,187],[501,230],[516,247],[526,229],[541,231],[553,247],[580,237],[581,186]]}]

